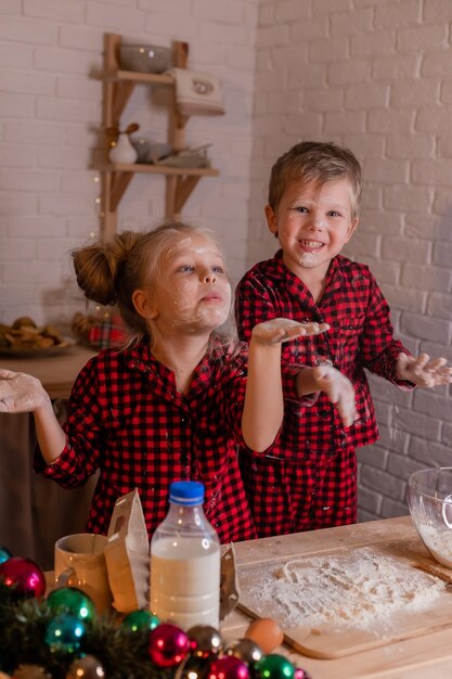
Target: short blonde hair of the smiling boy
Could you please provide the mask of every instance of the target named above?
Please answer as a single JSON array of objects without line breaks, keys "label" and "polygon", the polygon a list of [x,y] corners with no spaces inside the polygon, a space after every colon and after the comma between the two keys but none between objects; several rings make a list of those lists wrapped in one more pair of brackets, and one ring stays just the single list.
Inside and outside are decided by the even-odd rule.
[{"label": "short blonde hair of the smiling boy", "polygon": [[302,141],[274,163],[269,183],[269,205],[275,212],[287,187],[294,181],[336,181],[348,179],[351,217],[358,217],[362,195],[361,165],[348,149],[333,142]]}]

